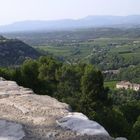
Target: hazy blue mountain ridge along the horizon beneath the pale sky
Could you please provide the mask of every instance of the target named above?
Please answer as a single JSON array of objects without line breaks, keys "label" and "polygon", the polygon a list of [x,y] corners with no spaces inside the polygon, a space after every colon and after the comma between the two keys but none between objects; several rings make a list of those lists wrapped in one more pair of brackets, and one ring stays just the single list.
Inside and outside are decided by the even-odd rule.
[{"label": "hazy blue mountain ridge along the horizon beneath the pale sky", "polygon": [[0,26],[0,32],[62,30],[91,27],[135,27],[140,25],[140,15],[131,16],[88,16],[73,20],[21,21]]}]

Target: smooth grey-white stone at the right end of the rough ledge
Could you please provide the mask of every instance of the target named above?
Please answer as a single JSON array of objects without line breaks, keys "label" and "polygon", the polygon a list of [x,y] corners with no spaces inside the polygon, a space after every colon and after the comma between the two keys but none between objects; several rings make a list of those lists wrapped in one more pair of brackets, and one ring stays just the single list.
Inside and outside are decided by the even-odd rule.
[{"label": "smooth grey-white stone at the right end of the rough ledge", "polygon": [[108,132],[97,122],[89,120],[82,113],[69,113],[58,120],[58,124],[63,128],[76,131],[81,135],[109,136]]}]

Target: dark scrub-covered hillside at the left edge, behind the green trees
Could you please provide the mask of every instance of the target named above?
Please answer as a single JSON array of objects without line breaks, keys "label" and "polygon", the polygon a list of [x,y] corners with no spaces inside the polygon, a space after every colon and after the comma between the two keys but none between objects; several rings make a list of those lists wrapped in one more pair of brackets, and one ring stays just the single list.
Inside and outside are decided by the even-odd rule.
[{"label": "dark scrub-covered hillside at the left edge, behind the green trees", "polygon": [[39,56],[35,49],[24,42],[0,36],[0,66],[19,65],[25,59],[35,59]]}]

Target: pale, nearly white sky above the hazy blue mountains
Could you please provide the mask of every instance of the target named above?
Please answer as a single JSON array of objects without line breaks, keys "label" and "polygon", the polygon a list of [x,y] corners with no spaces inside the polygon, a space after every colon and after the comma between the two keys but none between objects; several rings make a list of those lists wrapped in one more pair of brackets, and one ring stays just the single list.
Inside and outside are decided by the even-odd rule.
[{"label": "pale, nearly white sky above the hazy blue mountains", "polygon": [[140,15],[140,0],[0,0],[0,25],[89,15]]}]

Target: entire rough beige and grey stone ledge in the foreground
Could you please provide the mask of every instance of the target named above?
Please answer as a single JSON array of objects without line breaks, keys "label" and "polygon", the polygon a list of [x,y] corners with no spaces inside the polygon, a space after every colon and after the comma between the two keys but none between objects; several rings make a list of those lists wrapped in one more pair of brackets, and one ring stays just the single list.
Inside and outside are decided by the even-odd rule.
[{"label": "entire rough beige and grey stone ledge in the foreground", "polygon": [[98,123],[71,113],[69,105],[0,78],[0,140],[68,139],[112,138]]}]

